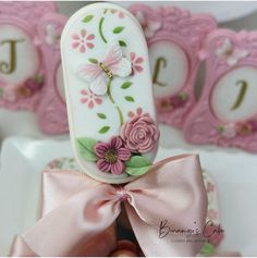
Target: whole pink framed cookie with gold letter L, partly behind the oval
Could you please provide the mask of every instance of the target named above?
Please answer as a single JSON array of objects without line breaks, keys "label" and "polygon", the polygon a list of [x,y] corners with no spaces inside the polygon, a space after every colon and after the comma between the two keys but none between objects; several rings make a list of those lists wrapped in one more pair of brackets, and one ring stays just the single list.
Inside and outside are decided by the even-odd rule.
[{"label": "whole pink framed cookie with gold letter L, partly behind the oval", "polygon": [[195,103],[198,52],[216,21],[172,5],[152,9],[136,3],[130,11],[147,39],[158,120],[181,128]]}]

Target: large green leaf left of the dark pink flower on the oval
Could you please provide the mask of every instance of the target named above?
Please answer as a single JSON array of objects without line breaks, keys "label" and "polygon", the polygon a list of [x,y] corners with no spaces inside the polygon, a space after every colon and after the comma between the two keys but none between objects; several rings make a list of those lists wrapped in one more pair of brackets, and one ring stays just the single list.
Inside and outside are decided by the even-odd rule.
[{"label": "large green leaf left of the dark pink flower on the oval", "polygon": [[96,161],[97,157],[95,155],[95,145],[97,144],[96,139],[81,137],[76,139],[76,147],[79,151],[82,158],[86,161]]}]

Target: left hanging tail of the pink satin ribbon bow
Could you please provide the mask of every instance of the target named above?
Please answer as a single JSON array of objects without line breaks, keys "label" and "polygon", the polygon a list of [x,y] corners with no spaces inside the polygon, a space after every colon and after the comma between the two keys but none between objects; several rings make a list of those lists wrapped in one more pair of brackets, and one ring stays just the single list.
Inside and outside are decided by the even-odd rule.
[{"label": "left hanging tail of the pink satin ribbon bow", "polygon": [[107,230],[120,213],[120,204],[105,197],[110,187],[84,189],[58,206],[16,237],[11,255],[86,256],[87,244]]}]

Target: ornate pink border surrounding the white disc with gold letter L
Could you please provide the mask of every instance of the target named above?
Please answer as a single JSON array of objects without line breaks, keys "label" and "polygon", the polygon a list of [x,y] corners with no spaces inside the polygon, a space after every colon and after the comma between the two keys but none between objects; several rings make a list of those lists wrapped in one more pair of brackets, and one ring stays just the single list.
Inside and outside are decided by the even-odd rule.
[{"label": "ornate pink border surrounding the white disc with gold letter L", "polygon": [[[144,4],[133,4],[130,7],[130,11],[135,15],[140,12],[146,20],[161,23],[154,35],[147,38],[148,46],[157,41],[170,40],[180,46],[187,57],[188,75],[185,85],[180,90],[180,93],[183,91],[187,96],[185,105],[171,112],[161,112],[157,107],[159,122],[181,128],[185,115],[195,105],[194,84],[200,63],[198,52],[208,33],[217,27],[216,21],[210,15],[193,15],[186,10],[174,7],[159,7],[154,10]],[[158,101],[161,99],[163,98],[158,98]]]}]

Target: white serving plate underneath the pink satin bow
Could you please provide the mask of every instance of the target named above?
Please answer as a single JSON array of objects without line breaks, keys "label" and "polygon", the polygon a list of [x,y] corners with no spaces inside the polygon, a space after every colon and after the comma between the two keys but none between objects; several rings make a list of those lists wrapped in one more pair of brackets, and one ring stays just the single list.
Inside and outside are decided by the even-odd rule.
[{"label": "white serving plate underneath the pink satin bow", "polygon": [[[181,133],[161,125],[162,148],[157,160],[198,152],[204,169],[217,181],[225,238],[220,250],[257,255],[257,157],[236,149],[195,147]],[[163,146],[172,148],[163,148]],[[8,255],[12,237],[36,221],[40,172],[54,158],[72,156],[69,140],[12,137],[3,143],[0,170],[0,256]]]}]

